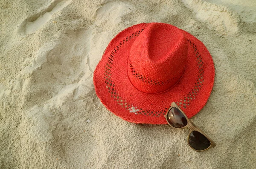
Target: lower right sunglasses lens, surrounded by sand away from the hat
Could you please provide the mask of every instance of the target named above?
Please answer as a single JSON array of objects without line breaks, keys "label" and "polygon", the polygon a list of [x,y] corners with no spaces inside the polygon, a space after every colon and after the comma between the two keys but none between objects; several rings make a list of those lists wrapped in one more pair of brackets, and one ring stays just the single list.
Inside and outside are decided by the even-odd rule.
[{"label": "lower right sunglasses lens, surrounded by sand away from the hat", "polygon": [[211,142],[200,132],[193,131],[189,135],[189,145],[196,150],[204,150],[211,145]]}]

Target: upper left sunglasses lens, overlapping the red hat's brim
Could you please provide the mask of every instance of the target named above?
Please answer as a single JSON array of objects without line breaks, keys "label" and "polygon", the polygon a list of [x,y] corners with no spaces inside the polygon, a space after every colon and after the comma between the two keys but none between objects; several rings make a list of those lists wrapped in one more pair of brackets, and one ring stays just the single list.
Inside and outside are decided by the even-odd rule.
[{"label": "upper left sunglasses lens, overlapping the red hat's brim", "polygon": [[173,107],[167,114],[168,122],[175,128],[181,128],[187,125],[186,117],[180,112],[179,109]]}]

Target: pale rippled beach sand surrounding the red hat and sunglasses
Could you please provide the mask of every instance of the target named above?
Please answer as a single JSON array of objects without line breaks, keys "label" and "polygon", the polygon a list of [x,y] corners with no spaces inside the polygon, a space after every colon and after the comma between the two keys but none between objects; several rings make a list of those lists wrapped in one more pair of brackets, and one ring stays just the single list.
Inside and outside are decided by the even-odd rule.
[{"label": "pale rippled beach sand surrounding the red hat and sunglasses", "polygon": [[[254,168],[255,1],[169,1],[1,0],[0,168]],[[187,129],[128,123],[96,96],[105,47],[143,22],[186,30],[212,54],[215,84],[192,121],[215,148],[193,151]]]}]

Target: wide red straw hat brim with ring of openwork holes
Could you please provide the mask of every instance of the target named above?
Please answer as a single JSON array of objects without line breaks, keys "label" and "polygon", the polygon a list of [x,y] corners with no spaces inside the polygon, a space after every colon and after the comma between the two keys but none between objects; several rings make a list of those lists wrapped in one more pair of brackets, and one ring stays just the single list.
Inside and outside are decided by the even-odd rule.
[{"label": "wide red straw hat brim with ring of openwork holes", "polygon": [[164,115],[172,102],[190,118],[204,107],[212,91],[212,57],[200,40],[182,30],[188,42],[183,76],[165,92],[140,92],[128,78],[127,63],[131,45],[148,24],[131,26],[111,40],[94,71],[96,95],[113,114],[132,123],[167,124]]}]

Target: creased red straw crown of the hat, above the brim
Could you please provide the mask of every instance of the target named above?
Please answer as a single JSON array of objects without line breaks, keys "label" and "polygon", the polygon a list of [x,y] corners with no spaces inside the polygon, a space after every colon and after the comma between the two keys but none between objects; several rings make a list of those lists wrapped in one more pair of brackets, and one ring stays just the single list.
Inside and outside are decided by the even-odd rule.
[{"label": "creased red straw crown of the hat, above the brim", "polygon": [[187,60],[182,30],[166,23],[150,23],[131,46],[127,73],[132,85],[144,93],[172,88],[182,77]]}]

